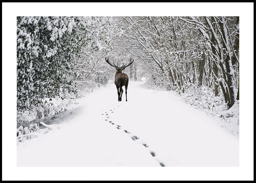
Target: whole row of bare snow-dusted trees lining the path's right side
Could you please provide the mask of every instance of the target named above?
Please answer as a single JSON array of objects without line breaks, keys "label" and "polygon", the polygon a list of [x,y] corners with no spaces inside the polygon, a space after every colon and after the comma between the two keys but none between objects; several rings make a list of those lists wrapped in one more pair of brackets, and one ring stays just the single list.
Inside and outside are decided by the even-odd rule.
[{"label": "whole row of bare snow-dusted trees lining the path's right side", "polygon": [[184,92],[219,88],[239,98],[239,17],[119,17],[119,48],[137,57],[154,85]]}]

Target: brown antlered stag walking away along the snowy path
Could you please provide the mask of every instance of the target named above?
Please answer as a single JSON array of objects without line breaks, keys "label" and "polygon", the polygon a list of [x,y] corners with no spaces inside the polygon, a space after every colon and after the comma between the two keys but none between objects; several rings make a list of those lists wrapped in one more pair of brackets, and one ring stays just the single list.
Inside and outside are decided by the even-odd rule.
[{"label": "brown antlered stag walking away along the snowy path", "polygon": [[108,57],[108,59],[105,58],[105,60],[109,65],[116,68],[115,85],[116,85],[116,89],[117,89],[118,101],[119,102],[122,101],[122,95],[123,95],[123,88],[122,87],[125,86],[125,96],[126,96],[126,102],[127,102],[127,87],[128,87],[129,78],[128,78],[127,74],[122,73],[122,71],[126,67],[130,66],[134,60],[132,59],[132,61],[131,61],[131,59],[130,59],[130,62],[128,63],[128,65],[127,65],[127,63],[126,64],[123,63],[123,65],[121,67],[118,67],[118,63],[117,63],[117,66],[116,66],[114,62],[113,62],[113,65],[112,65],[109,61],[109,57]]}]

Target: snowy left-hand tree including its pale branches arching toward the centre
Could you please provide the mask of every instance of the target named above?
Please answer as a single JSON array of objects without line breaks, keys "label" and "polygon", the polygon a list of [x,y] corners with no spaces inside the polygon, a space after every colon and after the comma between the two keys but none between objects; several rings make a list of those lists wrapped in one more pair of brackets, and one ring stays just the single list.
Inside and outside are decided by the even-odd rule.
[{"label": "snowy left-hand tree including its pale branches arching toward the centre", "polygon": [[17,110],[61,91],[76,92],[75,57],[101,50],[113,32],[111,17],[17,17]]}]

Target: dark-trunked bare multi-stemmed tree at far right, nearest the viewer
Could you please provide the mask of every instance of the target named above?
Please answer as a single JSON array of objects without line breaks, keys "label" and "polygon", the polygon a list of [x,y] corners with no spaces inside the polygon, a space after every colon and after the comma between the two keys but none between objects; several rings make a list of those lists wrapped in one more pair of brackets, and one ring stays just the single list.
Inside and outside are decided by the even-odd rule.
[{"label": "dark-trunked bare multi-stemmed tree at far right, nearest the viewer", "polygon": [[239,89],[239,17],[181,19],[191,26],[196,25],[205,38],[205,46],[213,63],[215,96],[218,93],[217,86],[220,85],[230,108],[236,100],[235,90]]}]

